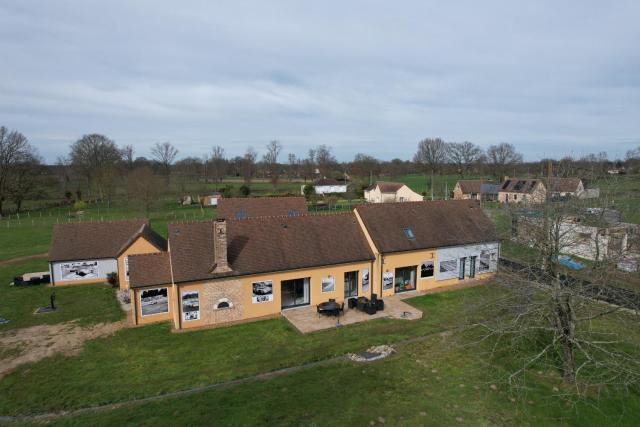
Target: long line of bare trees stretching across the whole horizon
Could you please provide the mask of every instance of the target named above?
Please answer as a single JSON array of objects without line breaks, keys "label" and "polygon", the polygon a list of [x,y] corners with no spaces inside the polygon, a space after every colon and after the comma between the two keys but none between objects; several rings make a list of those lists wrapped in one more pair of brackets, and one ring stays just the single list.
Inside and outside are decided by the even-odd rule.
[{"label": "long line of bare trees stretching across the whole horizon", "polygon": [[[357,153],[351,161],[338,161],[331,146],[320,144],[305,156],[284,154],[277,140],[265,144],[262,156],[254,147],[243,155],[228,156],[225,148],[215,145],[201,157],[179,158],[180,150],[171,142],[158,142],[151,147],[150,158],[137,156],[133,145],[119,146],[101,134],[83,135],[69,146],[55,165],[45,165],[37,150],[20,132],[0,127],[0,213],[3,202],[11,201],[20,211],[24,200],[44,198],[42,184],[57,186],[69,201],[100,199],[110,203],[116,193],[152,200],[171,183],[178,190],[188,183],[218,185],[226,177],[250,184],[255,179],[271,182],[274,188],[282,180],[310,182],[318,178],[359,181],[368,185],[373,177],[393,179],[407,174],[457,174],[493,177],[504,175],[544,174],[547,160],[523,162],[523,156],[510,143],[490,145],[483,149],[472,142],[447,142],[426,138],[418,142],[411,160],[400,157],[380,160],[367,153]],[[410,153],[407,153],[407,157]],[[606,153],[589,154],[579,159],[565,156],[554,160],[559,176],[581,176],[595,179],[613,166]],[[625,164],[637,167],[640,147],[627,153]],[[57,183],[57,185],[56,185]],[[433,186],[431,186],[433,187]],[[145,202],[146,204],[146,202]]]}]

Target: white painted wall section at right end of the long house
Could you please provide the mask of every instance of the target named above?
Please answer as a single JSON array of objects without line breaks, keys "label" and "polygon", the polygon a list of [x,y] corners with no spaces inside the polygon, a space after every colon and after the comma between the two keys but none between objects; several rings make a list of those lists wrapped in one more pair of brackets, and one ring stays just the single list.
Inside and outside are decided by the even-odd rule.
[{"label": "white painted wall section at right end of the long house", "polygon": [[[480,271],[480,255],[485,252],[490,254],[489,269]],[[460,258],[466,257],[465,264],[465,276],[469,275],[469,263],[470,257],[476,256],[476,275],[497,271],[498,269],[498,257],[500,256],[500,243],[480,243],[474,245],[465,246],[452,246],[449,248],[442,248],[436,251],[436,280],[447,280],[458,278],[458,272],[460,271]],[[441,272],[440,264],[446,261],[456,261],[456,268],[452,271]]]}]

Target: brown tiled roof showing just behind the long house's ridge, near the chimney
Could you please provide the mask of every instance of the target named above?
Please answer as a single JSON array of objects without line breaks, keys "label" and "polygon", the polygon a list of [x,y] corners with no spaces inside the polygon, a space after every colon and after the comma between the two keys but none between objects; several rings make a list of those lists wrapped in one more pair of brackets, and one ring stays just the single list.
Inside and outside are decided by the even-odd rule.
[{"label": "brown tiled roof showing just behind the long house's ridge, near the chimney", "polygon": [[222,198],[218,201],[218,218],[224,219],[304,215],[307,212],[304,197]]}]

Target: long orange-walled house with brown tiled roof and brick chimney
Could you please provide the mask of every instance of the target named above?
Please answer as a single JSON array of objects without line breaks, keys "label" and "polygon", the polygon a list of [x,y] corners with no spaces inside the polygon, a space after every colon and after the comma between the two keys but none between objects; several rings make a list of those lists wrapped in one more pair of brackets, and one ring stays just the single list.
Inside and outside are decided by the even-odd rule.
[{"label": "long orange-walled house with brown tiled roof and brick chimney", "polygon": [[136,324],[211,327],[427,290],[489,277],[499,255],[493,224],[466,200],[179,222],[167,248],[129,257]]}]

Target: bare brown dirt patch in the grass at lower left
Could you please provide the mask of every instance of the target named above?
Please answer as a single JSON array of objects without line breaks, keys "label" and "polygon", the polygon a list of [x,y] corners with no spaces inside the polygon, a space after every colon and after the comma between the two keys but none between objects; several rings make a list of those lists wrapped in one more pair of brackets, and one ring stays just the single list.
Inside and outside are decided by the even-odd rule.
[{"label": "bare brown dirt patch in the grass at lower left", "polygon": [[20,365],[56,354],[78,354],[85,341],[111,335],[127,325],[126,320],[82,327],[75,321],[38,325],[0,334],[0,378]]}]

